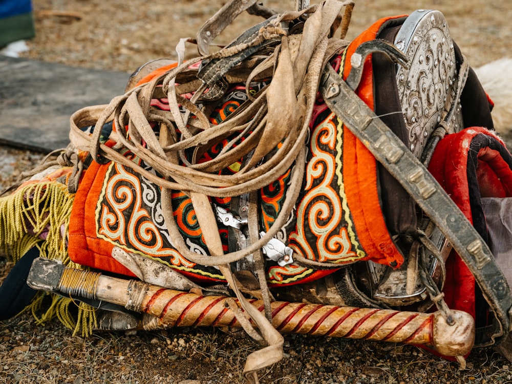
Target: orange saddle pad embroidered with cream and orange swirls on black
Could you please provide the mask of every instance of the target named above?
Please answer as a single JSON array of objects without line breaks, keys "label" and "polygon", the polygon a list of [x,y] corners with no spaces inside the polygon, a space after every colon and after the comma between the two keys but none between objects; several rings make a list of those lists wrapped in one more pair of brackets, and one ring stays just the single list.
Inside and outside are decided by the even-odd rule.
[{"label": "orange saddle pad embroidered with cream and orange swirls on black", "polygon": [[[330,60],[331,65],[346,78],[352,69],[351,58],[358,47],[375,39],[393,41],[396,36],[400,36],[401,26],[406,20],[406,16],[378,20],[346,49],[335,54]],[[445,33],[447,34],[447,31]],[[434,77],[428,81],[423,79],[424,86],[431,87],[431,84],[442,76],[446,83],[449,82],[446,76],[455,79],[457,65],[460,65],[461,61],[457,47],[454,48],[451,40],[448,40],[439,50],[438,54],[447,58],[442,61],[443,65],[445,61],[451,62],[453,68],[449,70],[443,67],[441,70],[440,63],[434,66],[432,62],[432,68],[427,69]],[[165,70],[169,68],[161,68],[143,81],[151,81],[162,72],[165,73]],[[188,70],[198,73],[200,68],[192,65]],[[425,69],[422,70],[425,72]],[[406,108],[409,124],[407,120],[404,121],[401,114],[393,114],[395,111],[401,111],[403,104],[414,104],[410,96],[400,96],[399,88],[403,87],[400,84],[406,75],[409,73],[400,72],[397,75],[393,62],[380,55],[370,55],[364,63],[364,71],[356,92],[379,115],[383,115],[382,119],[393,127],[404,142],[409,142],[411,150],[420,156],[425,139],[431,132],[424,131],[426,135],[418,138],[418,134],[411,129],[413,123],[421,120],[414,116],[414,105]],[[421,79],[420,74],[411,74],[413,75]],[[258,95],[271,80],[268,78],[250,84],[231,84],[222,99],[211,106],[209,123],[215,125],[224,121],[236,112],[237,108],[245,105],[250,96]],[[451,106],[451,100],[448,97],[446,101],[446,95],[451,95],[452,91],[453,88],[447,86],[446,90],[436,91],[437,99],[419,98],[416,102],[425,103],[425,115],[428,115],[425,110],[429,107],[431,111],[447,111]],[[404,91],[401,90],[401,93]],[[190,100],[194,93],[182,96]],[[442,105],[437,105],[438,99],[444,100]],[[169,111],[168,99],[152,98],[151,109]],[[430,116],[428,115],[429,118]],[[437,117],[437,114],[433,116]],[[429,125],[421,121],[423,126]],[[490,118],[484,123],[486,124],[483,125],[492,126]],[[152,126],[158,137],[159,124],[152,122]],[[137,154],[106,139],[110,134],[109,130],[112,129],[112,124],[105,124],[103,127],[102,135],[105,136],[106,144],[118,148],[119,153],[137,166],[156,174],[156,171],[144,163]],[[181,132],[176,127],[175,129],[176,135],[180,136]],[[181,164],[185,165],[183,161],[200,164],[214,160],[225,150],[233,136],[237,135],[240,136],[240,142],[251,138],[251,132],[240,131],[206,149],[201,148],[197,151],[197,148],[189,148],[184,151],[186,159],[182,160]],[[293,208],[293,214],[275,236],[275,240],[282,243],[281,256],[274,260],[267,259],[268,283],[289,285],[312,281],[331,273],[337,267],[365,260],[399,267],[403,262],[403,254],[395,239],[416,229],[414,201],[396,180],[377,164],[373,155],[344,127],[319,96],[314,103],[310,119],[307,150],[305,177],[300,196]],[[240,158],[222,169],[219,174],[235,175],[247,161],[248,157]],[[292,170],[293,167],[282,169],[279,178],[258,192],[259,226],[263,233],[272,226],[287,192],[289,193]],[[237,249],[237,245],[233,246],[233,242],[237,243],[237,240],[232,240],[232,232],[240,231],[240,227],[233,229],[230,223],[232,220],[243,221],[241,217],[244,204],[240,202],[241,198],[243,196],[210,196],[211,204],[215,206],[216,212],[220,212],[218,227],[225,252]],[[236,204],[233,204],[234,199],[237,201]],[[180,190],[173,191],[172,206],[173,216],[188,248],[199,254],[208,254],[187,194]],[[227,221],[222,221],[223,217],[227,217]],[[240,241],[238,243],[240,246]],[[70,257],[78,264],[133,275],[112,258],[114,247],[155,258],[196,280],[224,280],[216,267],[193,263],[177,251],[163,220],[160,188],[157,185],[130,166],[116,162],[92,162],[81,180],[73,205],[69,232]],[[283,262],[287,254],[291,260],[295,260],[294,263]],[[307,263],[297,262],[297,259],[322,263],[323,267],[312,268]],[[329,264],[334,269],[326,269],[325,265]]]}]

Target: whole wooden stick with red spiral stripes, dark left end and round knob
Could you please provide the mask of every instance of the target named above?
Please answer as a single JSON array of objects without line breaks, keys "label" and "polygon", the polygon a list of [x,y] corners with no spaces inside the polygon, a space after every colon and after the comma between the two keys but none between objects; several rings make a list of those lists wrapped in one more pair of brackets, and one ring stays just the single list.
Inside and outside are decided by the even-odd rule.
[{"label": "whole wooden stick with red spiral stripes, dark left end and round knob", "polygon": [[[228,296],[203,296],[134,280],[65,267],[36,259],[27,283],[34,289],[95,298],[154,316],[146,329],[166,327],[241,327]],[[261,300],[251,304],[263,311]],[[281,333],[302,333],[425,345],[445,356],[469,353],[475,339],[473,317],[452,311],[454,325],[440,312],[420,313],[375,308],[273,302],[272,325]]]}]

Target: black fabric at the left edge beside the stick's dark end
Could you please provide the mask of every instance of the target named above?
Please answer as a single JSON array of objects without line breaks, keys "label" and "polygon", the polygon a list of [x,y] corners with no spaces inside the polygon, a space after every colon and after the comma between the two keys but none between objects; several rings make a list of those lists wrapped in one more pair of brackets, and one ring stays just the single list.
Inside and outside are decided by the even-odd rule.
[{"label": "black fabric at the left edge beside the stick's dark end", "polygon": [[39,249],[32,248],[14,265],[0,286],[0,321],[14,317],[30,304],[37,291],[27,285],[32,262],[39,257]]}]

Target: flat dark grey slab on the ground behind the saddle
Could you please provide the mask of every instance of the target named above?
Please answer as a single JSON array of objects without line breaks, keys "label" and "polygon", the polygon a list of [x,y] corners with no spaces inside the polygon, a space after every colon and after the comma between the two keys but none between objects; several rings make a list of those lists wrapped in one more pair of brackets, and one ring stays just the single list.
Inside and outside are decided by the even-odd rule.
[{"label": "flat dark grey slab on the ground behind the saddle", "polygon": [[69,118],[124,93],[129,74],[0,55],[0,144],[50,152],[69,143]]}]

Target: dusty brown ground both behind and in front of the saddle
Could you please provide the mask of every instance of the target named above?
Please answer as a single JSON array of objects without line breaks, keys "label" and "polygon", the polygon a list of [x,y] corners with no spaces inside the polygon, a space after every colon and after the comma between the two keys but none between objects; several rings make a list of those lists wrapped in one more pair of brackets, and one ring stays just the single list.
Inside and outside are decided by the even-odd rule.
[{"label": "dusty brown ground both behind and in front of the saddle", "polygon": [[[293,2],[268,1],[275,9]],[[180,37],[194,36],[222,3],[206,0],[34,0],[37,36],[27,57],[72,66],[131,72],[147,60],[175,57]],[[437,8],[473,66],[508,56],[512,27],[508,0],[357,0],[349,37],[378,17]],[[60,11],[74,16],[58,15]],[[228,41],[258,19],[244,17],[225,32]],[[189,55],[195,55],[194,48]],[[35,74],[36,75],[36,74]],[[79,84],[77,84],[79,86]],[[120,90],[122,92],[122,90]],[[0,189],[41,156],[0,147]],[[0,259],[0,276],[9,269]],[[0,323],[0,382],[229,383],[240,382],[247,354],[258,348],[243,335],[215,329],[98,333],[73,336],[58,322],[35,324],[24,314]],[[410,346],[323,337],[286,336],[285,358],[262,372],[263,383],[507,382],[508,361],[475,351],[467,370]],[[188,380],[188,381],[187,381]]]}]

